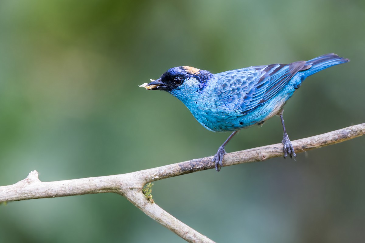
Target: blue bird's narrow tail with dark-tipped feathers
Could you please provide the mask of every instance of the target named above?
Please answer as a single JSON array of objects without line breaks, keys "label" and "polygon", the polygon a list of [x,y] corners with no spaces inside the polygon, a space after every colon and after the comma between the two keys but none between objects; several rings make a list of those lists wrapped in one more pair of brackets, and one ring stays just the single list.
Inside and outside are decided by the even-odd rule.
[{"label": "blue bird's narrow tail with dark-tipped feathers", "polygon": [[307,74],[306,76],[308,77],[327,67],[331,67],[331,66],[349,62],[349,61],[350,60],[347,58],[342,58],[334,53],[329,53],[329,54],[318,56],[316,58],[313,58],[313,59],[307,61],[306,66],[311,65],[311,67],[308,68],[307,70],[305,70],[304,72],[306,72],[306,74]]}]

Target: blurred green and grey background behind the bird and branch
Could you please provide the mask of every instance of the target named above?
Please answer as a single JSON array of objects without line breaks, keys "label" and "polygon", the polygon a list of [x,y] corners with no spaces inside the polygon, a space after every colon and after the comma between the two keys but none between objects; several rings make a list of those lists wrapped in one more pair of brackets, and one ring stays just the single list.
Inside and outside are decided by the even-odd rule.
[{"label": "blurred green and grey background behind the bird and branch", "polygon": [[[0,1],[0,185],[138,171],[214,154],[165,92],[170,67],[213,73],[351,59],[308,78],[285,106],[292,140],[365,122],[365,1]],[[227,152],[278,143],[280,119]],[[364,137],[155,182],[153,198],[216,242],[361,242]],[[0,205],[0,242],[184,242],[114,194]]]}]

